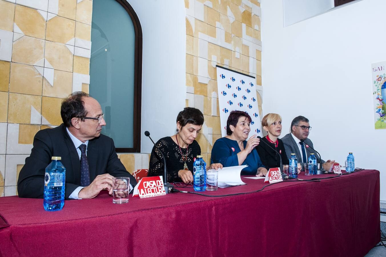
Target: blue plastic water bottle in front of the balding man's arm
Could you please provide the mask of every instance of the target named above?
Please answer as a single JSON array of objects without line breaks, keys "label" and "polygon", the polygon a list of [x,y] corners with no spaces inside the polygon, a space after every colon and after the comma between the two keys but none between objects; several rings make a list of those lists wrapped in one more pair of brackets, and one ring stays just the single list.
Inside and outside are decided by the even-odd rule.
[{"label": "blue plastic water bottle in front of the balding man's arm", "polygon": [[43,200],[46,211],[60,211],[64,206],[66,168],[60,162],[61,159],[61,157],[52,157],[52,162],[46,167]]}]

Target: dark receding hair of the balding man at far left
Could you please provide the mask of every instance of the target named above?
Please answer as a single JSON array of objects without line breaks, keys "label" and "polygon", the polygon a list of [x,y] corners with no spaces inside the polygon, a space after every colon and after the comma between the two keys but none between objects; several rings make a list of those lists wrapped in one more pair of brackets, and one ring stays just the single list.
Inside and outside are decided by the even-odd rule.
[{"label": "dark receding hair of the balding man at far left", "polygon": [[[87,110],[85,109],[84,97],[89,97],[88,93],[78,91],[74,92],[62,101],[60,115],[64,126],[72,126],[71,119],[74,117],[86,117]],[[84,119],[82,119],[84,121]]]}]

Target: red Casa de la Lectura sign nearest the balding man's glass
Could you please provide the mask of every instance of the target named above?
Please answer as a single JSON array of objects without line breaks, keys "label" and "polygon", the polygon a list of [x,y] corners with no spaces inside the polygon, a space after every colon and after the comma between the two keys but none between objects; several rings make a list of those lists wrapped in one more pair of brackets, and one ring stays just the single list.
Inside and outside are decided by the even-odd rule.
[{"label": "red Casa de la Lectura sign nearest the balding man's glass", "polygon": [[133,190],[133,196],[139,198],[148,198],[154,196],[166,195],[162,176],[142,178]]}]

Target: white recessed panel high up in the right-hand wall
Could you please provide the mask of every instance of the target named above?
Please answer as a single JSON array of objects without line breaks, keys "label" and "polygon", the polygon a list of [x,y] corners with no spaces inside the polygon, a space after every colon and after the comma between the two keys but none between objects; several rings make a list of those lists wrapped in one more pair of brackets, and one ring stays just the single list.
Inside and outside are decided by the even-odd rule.
[{"label": "white recessed panel high up in the right-hand wall", "polygon": [[283,0],[284,26],[334,8],[334,0]]}]

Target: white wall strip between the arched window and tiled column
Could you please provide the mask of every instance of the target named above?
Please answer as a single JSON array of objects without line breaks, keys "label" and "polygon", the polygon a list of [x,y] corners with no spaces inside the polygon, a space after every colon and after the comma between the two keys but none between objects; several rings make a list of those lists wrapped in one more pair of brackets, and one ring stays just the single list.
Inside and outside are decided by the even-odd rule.
[{"label": "white wall strip between the arched window and tiled column", "polygon": [[176,131],[176,117],[185,107],[184,1],[128,0],[142,26],[141,152]]}]

